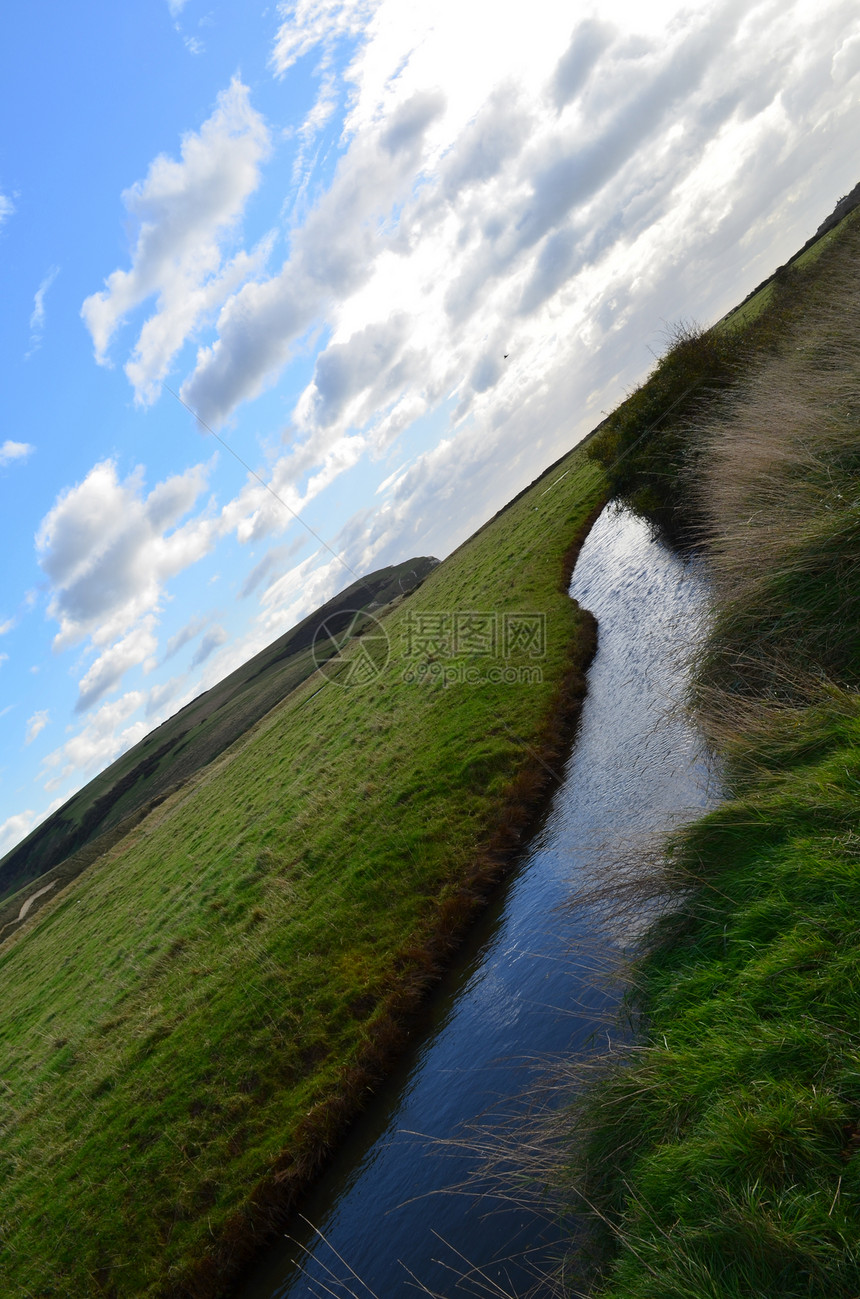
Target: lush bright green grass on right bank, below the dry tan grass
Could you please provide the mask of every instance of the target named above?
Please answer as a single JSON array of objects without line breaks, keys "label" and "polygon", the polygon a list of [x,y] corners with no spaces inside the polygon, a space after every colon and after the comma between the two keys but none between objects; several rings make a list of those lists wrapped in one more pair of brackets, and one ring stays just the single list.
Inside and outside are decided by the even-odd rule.
[{"label": "lush bright green grass on right bank, below the dry tan grass", "polygon": [[860,717],[685,838],[695,887],[640,970],[648,1033],[600,1096],[612,1299],[860,1287]]}]

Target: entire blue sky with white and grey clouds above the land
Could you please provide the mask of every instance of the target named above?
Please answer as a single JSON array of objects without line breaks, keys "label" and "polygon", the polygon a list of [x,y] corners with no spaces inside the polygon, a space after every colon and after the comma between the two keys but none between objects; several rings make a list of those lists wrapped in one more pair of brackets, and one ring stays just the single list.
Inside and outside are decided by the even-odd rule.
[{"label": "entire blue sky with white and grey clouds above the land", "polygon": [[0,60],[0,851],[860,179],[856,0],[32,0]]}]

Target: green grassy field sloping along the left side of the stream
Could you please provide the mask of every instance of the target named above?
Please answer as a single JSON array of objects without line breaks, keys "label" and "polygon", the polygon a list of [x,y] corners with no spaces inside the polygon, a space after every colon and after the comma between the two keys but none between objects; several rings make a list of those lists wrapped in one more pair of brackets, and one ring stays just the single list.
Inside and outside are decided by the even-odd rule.
[{"label": "green grassy field sloping along the left side of the stream", "polygon": [[[0,948],[4,1296],[221,1294],[317,1170],[564,752],[604,496],[574,451],[388,616],[382,675],[310,678]],[[421,611],[540,612],[546,653],[409,683]]]}]

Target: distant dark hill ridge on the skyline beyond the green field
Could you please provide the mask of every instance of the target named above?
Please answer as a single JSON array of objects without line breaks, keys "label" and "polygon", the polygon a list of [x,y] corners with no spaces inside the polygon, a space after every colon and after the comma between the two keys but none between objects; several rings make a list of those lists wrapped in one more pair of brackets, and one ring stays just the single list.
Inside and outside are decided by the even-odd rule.
[{"label": "distant dark hill ridge on the skyline beyond the green field", "polygon": [[[148,811],[153,799],[210,763],[305,681],[316,669],[312,643],[323,622],[336,633],[348,629],[353,611],[378,612],[416,586],[435,562],[408,560],[353,582],[90,781],[0,860],[0,902],[12,902],[18,894],[14,905],[0,905],[0,929],[18,913],[27,894],[44,885],[40,877],[45,872],[139,809]],[[83,860],[90,856],[84,852]],[[60,876],[65,878],[73,869]],[[32,886],[34,881],[39,885]]]}]

